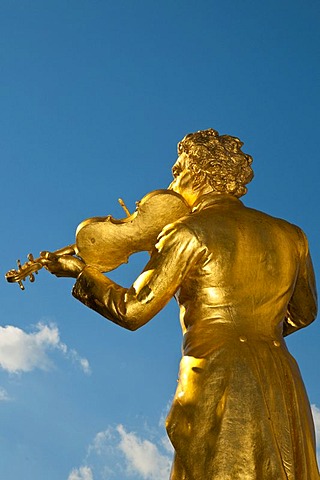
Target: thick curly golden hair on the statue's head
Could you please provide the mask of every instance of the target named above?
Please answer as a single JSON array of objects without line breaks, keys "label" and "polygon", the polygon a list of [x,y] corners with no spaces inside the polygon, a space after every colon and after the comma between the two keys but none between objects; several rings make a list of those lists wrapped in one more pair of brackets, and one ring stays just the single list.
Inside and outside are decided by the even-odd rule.
[{"label": "thick curly golden hair on the statue's head", "polygon": [[253,170],[252,157],[241,151],[242,145],[239,138],[219,135],[212,128],[186,135],[178,144],[178,154],[187,158],[184,163],[193,189],[244,195]]}]

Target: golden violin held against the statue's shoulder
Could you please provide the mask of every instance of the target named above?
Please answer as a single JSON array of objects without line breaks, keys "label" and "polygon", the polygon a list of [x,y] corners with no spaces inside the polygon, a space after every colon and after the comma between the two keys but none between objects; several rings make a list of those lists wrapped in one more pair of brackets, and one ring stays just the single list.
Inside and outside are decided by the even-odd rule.
[{"label": "golden violin held against the statue's shoulder", "polygon": [[[76,229],[75,244],[68,245],[53,252],[57,256],[76,255],[86,265],[93,266],[100,272],[110,272],[123,263],[130,255],[137,252],[151,252],[161,230],[190,213],[190,207],[184,198],[172,190],[154,190],[136,202],[133,214],[127,210],[123,219],[106,217],[88,218]],[[28,261],[18,269],[9,270],[5,278],[10,283],[18,283],[24,290],[23,281],[28,277],[31,282],[35,274],[44,266],[44,258],[34,258],[30,253]]]}]

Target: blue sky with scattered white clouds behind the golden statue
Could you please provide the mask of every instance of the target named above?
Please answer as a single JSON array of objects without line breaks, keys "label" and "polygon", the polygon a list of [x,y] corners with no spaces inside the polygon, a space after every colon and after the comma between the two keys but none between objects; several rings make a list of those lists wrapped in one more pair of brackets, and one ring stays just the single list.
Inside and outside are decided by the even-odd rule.
[{"label": "blue sky with scattered white clouds behind the golden statue", "polygon": [[[176,144],[205,128],[254,158],[244,202],[300,225],[317,277],[319,2],[2,0],[3,274],[124,216],[171,181]],[[129,286],[147,257],[114,272]],[[127,332],[41,271],[1,289],[0,476],[168,478],[162,428],[181,334],[171,302]],[[317,322],[288,339],[320,432]]]}]

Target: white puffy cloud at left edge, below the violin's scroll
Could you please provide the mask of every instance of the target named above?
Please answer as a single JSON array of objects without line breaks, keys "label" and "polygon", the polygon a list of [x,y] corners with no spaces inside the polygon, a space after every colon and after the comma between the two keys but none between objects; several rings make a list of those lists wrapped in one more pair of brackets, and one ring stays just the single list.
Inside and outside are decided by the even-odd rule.
[{"label": "white puffy cloud at left edge, below the violin's scroll", "polygon": [[32,333],[12,325],[0,327],[0,367],[7,372],[30,372],[35,368],[48,370],[52,366],[48,356],[50,350],[59,350],[78,363],[85,373],[90,373],[88,360],[61,342],[56,325],[38,323]]}]

